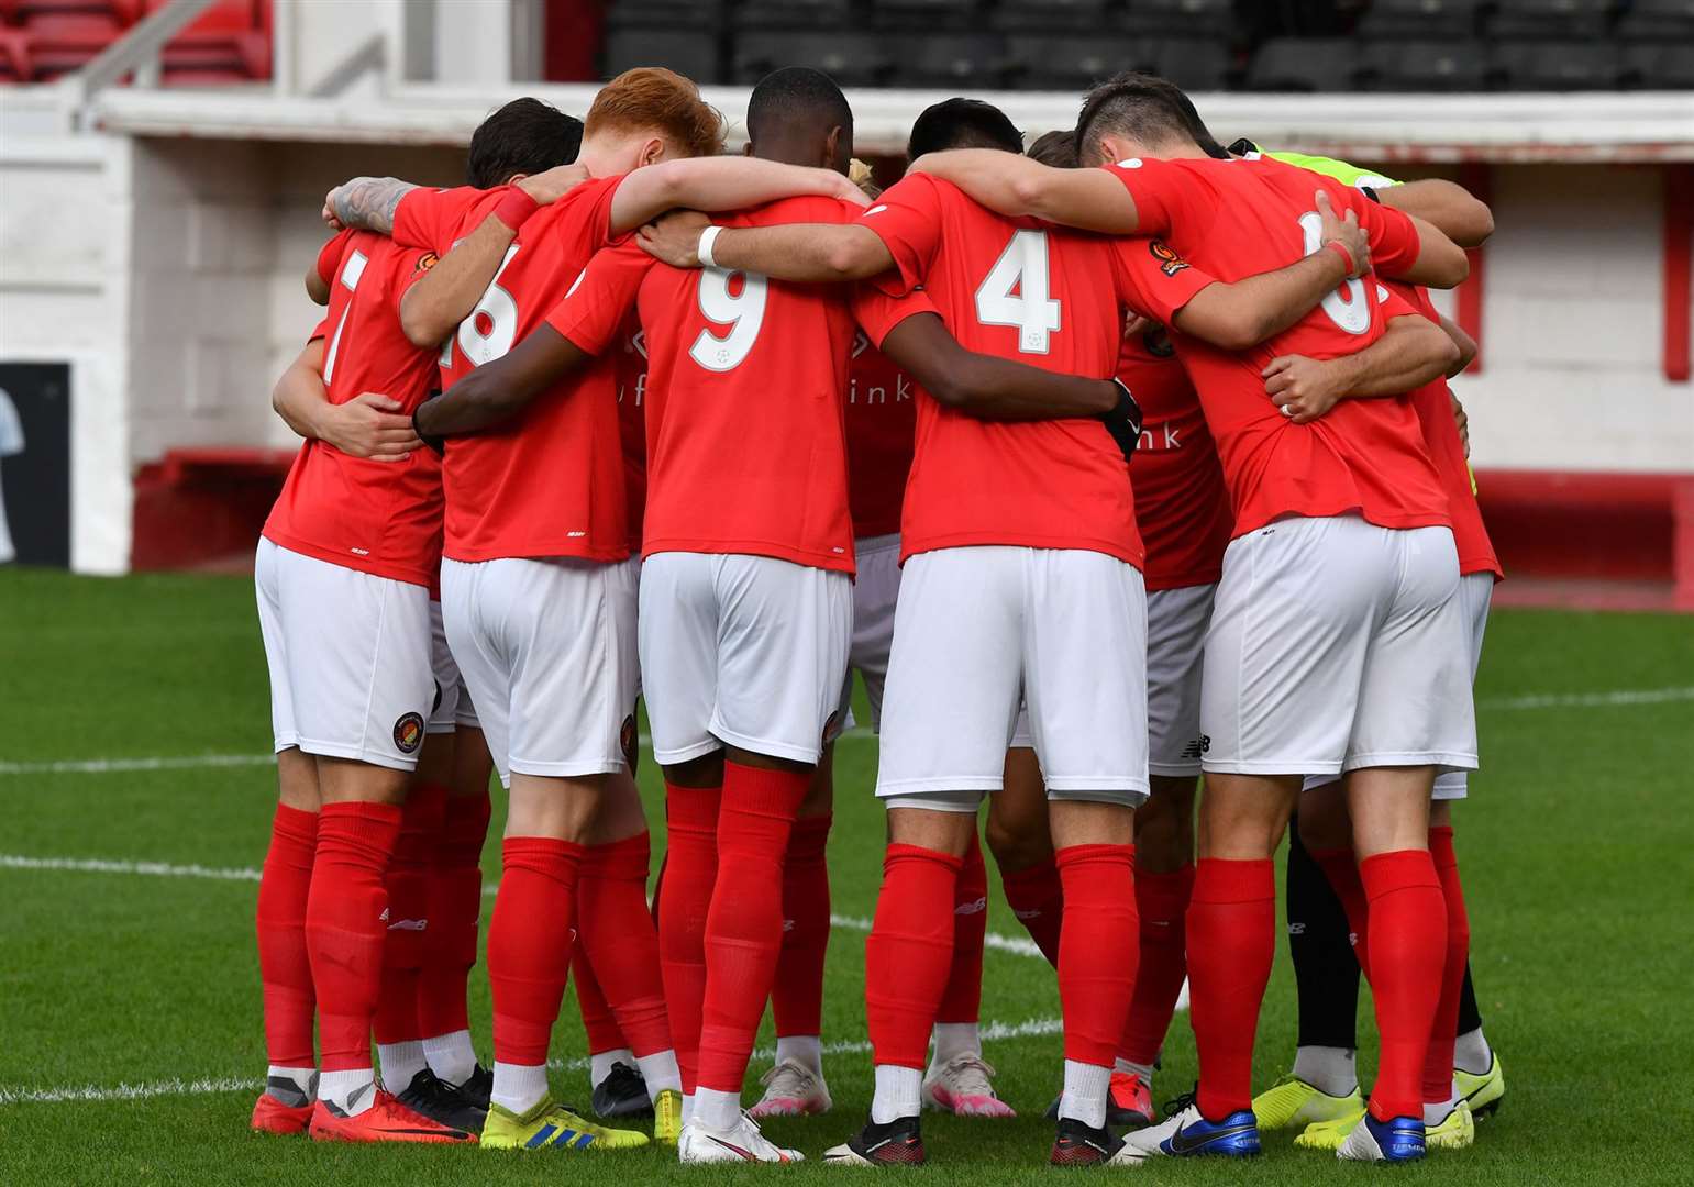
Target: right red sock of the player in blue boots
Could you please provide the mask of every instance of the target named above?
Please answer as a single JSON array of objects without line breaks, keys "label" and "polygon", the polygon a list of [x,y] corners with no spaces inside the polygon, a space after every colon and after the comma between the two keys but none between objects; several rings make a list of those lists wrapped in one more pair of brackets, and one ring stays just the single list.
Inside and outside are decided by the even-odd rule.
[{"label": "right red sock of the player in blue boots", "polygon": [[[1447,967],[1447,904],[1428,850],[1401,848],[1359,864],[1370,901],[1370,996],[1376,999],[1377,1121],[1423,1116],[1423,1062]],[[1448,1070],[1452,1075],[1452,1070]]]}]

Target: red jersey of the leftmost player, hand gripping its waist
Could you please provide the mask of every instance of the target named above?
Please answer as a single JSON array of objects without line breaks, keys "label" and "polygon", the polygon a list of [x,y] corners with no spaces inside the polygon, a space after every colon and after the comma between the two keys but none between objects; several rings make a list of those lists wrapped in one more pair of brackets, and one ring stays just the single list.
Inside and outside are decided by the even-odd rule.
[{"label": "red jersey of the leftmost player, hand gripping its waist", "polygon": [[[400,328],[400,296],[435,262],[429,251],[386,235],[344,230],[318,254],[329,283],[324,384],[330,403],[364,391],[398,400],[412,413],[435,383],[435,356]],[[300,447],[264,535],[318,560],[429,586],[440,569],[440,462],[415,449],[403,462],[349,457],[334,445]]]}]

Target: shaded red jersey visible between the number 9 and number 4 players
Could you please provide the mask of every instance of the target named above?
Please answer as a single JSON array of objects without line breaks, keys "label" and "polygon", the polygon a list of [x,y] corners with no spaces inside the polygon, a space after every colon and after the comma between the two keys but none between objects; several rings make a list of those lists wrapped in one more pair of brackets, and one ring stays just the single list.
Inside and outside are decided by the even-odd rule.
[{"label": "shaded red jersey visible between the number 9 and number 4 players", "polygon": [[[906,300],[920,301],[913,312],[935,312],[922,293]],[[916,384],[859,330],[847,367],[847,505],[857,538],[900,532],[916,430]]]}]

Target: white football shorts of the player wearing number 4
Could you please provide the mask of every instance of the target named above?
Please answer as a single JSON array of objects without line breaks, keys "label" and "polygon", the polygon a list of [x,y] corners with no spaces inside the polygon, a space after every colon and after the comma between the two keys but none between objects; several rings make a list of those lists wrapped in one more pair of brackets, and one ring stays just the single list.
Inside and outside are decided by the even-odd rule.
[{"label": "white football shorts of the player wearing number 4", "polygon": [[1147,593],[1081,549],[962,547],[906,560],[876,794],[976,811],[1020,703],[1052,799],[1147,798]]}]

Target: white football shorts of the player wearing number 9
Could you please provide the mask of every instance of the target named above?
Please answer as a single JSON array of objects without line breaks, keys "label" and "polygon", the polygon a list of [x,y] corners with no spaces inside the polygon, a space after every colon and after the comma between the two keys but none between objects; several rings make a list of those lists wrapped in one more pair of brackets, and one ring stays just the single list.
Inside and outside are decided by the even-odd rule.
[{"label": "white football shorts of the player wearing number 9", "polygon": [[642,696],[661,765],[732,745],[817,762],[852,640],[852,579],[811,566],[659,552],[640,572]]}]

